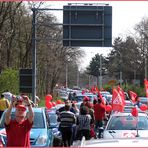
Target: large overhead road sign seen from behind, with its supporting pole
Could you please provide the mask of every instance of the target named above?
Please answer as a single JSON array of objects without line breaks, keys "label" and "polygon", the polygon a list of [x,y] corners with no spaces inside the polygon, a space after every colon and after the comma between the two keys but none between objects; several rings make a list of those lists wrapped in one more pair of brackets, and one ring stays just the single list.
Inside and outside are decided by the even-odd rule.
[{"label": "large overhead road sign seen from behind, with its supporting pole", "polygon": [[[112,7],[108,4],[69,3],[63,9],[32,8],[32,98],[36,102],[36,13],[63,11],[63,46],[111,47]],[[50,40],[50,39],[49,39]]]}]

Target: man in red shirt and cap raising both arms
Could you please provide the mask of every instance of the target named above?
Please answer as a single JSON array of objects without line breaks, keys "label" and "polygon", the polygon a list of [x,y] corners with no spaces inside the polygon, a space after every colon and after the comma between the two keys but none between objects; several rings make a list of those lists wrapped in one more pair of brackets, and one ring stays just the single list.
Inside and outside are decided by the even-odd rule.
[{"label": "man in red shirt and cap raising both arms", "polygon": [[[13,97],[9,108],[5,113],[5,129],[7,135],[7,147],[30,147],[30,130],[34,121],[34,112],[29,98],[22,96],[22,104]],[[12,108],[15,107],[15,117],[11,118]],[[28,107],[28,112],[26,111]]]}]

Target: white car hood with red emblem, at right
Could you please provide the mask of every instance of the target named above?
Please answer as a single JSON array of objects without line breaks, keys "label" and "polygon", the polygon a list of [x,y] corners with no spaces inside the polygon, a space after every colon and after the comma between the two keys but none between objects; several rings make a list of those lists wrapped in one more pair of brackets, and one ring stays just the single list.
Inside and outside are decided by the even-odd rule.
[{"label": "white car hood with red emblem, at right", "polygon": [[[137,136],[138,133],[138,136]],[[147,137],[148,130],[106,130],[103,137],[106,138],[135,138],[135,137]]]}]

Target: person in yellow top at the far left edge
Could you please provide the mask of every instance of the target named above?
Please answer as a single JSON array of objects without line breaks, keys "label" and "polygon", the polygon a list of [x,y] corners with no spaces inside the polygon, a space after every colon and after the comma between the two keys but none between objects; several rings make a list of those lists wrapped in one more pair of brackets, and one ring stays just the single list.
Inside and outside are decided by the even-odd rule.
[{"label": "person in yellow top at the far left edge", "polygon": [[1,94],[0,98],[0,118],[3,114],[3,112],[10,106],[10,102],[8,99],[4,97],[4,94]]}]

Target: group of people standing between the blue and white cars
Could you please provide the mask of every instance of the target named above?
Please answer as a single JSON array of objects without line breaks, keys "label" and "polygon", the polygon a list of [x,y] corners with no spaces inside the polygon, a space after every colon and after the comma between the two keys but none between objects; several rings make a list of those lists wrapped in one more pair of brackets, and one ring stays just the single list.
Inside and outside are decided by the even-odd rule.
[{"label": "group of people standing between the blue and white cars", "polygon": [[75,102],[65,100],[65,106],[57,110],[64,147],[71,146],[74,140],[82,140],[83,136],[86,140],[102,138],[105,106],[99,97],[93,103],[89,97],[84,97],[79,109]]}]

